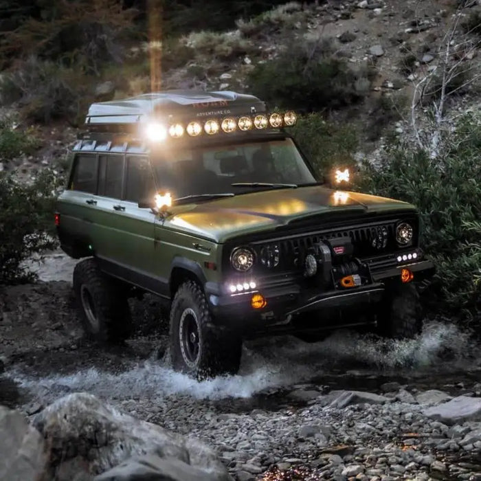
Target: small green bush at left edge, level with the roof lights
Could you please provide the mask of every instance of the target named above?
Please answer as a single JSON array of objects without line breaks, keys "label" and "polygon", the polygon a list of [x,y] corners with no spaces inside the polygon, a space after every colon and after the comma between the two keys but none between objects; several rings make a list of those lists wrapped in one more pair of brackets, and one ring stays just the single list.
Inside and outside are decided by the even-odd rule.
[{"label": "small green bush at left edge, level with the roof lights", "polygon": [[0,160],[13,159],[22,153],[30,154],[39,146],[34,129],[22,131],[12,118],[0,119]]}]

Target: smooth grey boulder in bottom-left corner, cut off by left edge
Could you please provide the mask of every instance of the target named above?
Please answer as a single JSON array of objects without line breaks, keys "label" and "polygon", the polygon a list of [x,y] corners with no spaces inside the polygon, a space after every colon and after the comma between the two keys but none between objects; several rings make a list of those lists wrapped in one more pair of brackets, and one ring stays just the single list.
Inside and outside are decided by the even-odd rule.
[{"label": "smooth grey boulder in bottom-left corner, cut off by left edge", "polygon": [[18,411],[0,406],[0,480],[37,481],[45,463],[41,434]]}]

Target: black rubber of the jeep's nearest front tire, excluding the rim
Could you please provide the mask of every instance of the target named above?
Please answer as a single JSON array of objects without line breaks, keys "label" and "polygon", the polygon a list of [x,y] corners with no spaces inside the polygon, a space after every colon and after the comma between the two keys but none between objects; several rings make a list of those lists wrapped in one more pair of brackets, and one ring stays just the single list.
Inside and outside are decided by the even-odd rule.
[{"label": "black rubber of the jeep's nearest front tire, excluding the rim", "polygon": [[[179,324],[176,315],[180,316],[180,313],[177,312],[179,304],[186,297],[194,300],[202,329],[203,357],[195,372],[184,363],[179,345]],[[214,377],[219,374],[236,374],[240,367],[242,340],[232,331],[222,331],[212,324],[212,316],[205,295],[199,284],[193,280],[187,280],[181,284],[170,307],[170,352],[173,367],[176,370],[188,372],[197,379]]]}]

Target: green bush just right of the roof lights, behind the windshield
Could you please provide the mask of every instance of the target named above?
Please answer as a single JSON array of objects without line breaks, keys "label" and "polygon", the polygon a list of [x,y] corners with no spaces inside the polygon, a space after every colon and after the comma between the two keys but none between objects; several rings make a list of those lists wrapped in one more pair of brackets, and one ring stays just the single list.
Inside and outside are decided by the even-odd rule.
[{"label": "green bush just right of the roof lights, behind the windshield", "polygon": [[335,166],[355,166],[359,137],[354,126],[326,122],[322,114],[311,113],[299,118],[289,131],[320,175],[327,175]]}]

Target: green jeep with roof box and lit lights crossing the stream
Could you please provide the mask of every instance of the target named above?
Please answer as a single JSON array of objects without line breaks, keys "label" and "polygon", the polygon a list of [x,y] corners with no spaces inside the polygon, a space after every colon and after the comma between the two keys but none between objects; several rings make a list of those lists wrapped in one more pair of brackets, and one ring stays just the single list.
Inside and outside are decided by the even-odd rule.
[{"label": "green jeep with roof box and lit lights crossing the stream", "polygon": [[92,104],[55,221],[85,330],[131,335],[128,298],[170,309],[175,369],[238,371],[243,339],[334,328],[421,330],[434,272],[414,206],[317,179],[269,112],[229,91],[165,91]]}]

